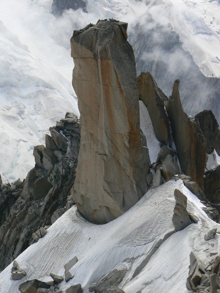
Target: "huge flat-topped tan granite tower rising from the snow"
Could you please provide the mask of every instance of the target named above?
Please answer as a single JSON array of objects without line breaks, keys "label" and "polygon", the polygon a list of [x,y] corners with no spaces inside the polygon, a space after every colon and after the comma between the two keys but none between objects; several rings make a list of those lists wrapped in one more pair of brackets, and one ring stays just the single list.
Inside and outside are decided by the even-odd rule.
[{"label": "huge flat-topped tan granite tower rising from the snow", "polygon": [[[148,190],[150,159],[141,133],[136,67],[128,24],[98,21],[71,38],[81,145],[72,189],[84,217],[105,224]],[[97,57],[98,56],[98,57]]]}]

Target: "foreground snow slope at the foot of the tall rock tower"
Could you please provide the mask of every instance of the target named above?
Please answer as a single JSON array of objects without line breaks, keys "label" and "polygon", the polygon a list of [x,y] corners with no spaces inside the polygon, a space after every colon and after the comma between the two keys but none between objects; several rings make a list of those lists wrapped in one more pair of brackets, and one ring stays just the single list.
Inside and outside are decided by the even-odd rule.
[{"label": "foreground snow slope at the foot of the tall rock tower", "polygon": [[[187,209],[199,218],[199,222],[170,236],[146,267],[132,278],[151,248],[174,230],[172,216],[176,188],[187,196]],[[219,236],[209,242],[204,240],[208,230],[219,229],[220,225],[209,219],[201,207],[198,198],[180,180],[149,190],[132,209],[105,225],[87,222],[73,207],[48,229],[44,238],[17,258],[20,267],[27,272],[26,277],[12,281],[12,265],[0,273],[0,293],[19,293],[19,284],[28,279],[48,281],[50,272],[64,277],[64,265],[74,256],[78,257],[77,264],[70,270],[74,277],[68,283],[60,284],[63,292],[69,286],[81,283],[84,292],[88,293],[89,286],[106,273],[124,267],[128,271],[119,287],[125,293],[188,292],[186,278],[190,252],[197,253],[206,263],[210,252],[216,251],[220,244]]]}]

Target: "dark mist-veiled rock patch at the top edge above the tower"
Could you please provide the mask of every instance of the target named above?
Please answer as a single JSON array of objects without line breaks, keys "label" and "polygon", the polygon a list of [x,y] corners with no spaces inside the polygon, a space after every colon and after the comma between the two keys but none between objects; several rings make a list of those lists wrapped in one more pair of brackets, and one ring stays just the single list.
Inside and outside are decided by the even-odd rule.
[{"label": "dark mist-veiled rock patch at the top edge above the tower", "polygon": [[86,0],[53,0],[52,13],[55,16],[61,16],[65,10],[82,9],[86,11]]}]

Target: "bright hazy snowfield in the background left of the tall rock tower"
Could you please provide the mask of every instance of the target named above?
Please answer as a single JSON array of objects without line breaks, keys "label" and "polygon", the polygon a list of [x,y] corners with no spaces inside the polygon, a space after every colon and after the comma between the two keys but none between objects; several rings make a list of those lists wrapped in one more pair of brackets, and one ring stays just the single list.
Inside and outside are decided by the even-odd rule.
[{"label": "bright hazy snowfield in the background left of the tall rock tower", "polygon": [[[46,7],[42,3],[47,3]],[[3,181],[23,179],[34,166],[33,147],[44,143],[49,127],[67,111],[79,115],[71,87],[70,52],[48,36],[55,20],[49,13],[50,5],[51,1],[0,2]]]}]

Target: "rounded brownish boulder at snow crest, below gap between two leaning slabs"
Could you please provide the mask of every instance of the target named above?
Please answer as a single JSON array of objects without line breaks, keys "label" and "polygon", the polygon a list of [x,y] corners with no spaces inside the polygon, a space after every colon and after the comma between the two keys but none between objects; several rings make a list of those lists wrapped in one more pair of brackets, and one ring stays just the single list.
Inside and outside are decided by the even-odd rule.
[{"label": "rounded brownish boulder at snow crest, below gap between two leaning slabs", "polygon": [[178,164],[172,155],[167,155],[163,162],[161,175],[166,181],[173,179],[173,176],[180,173]]}]

